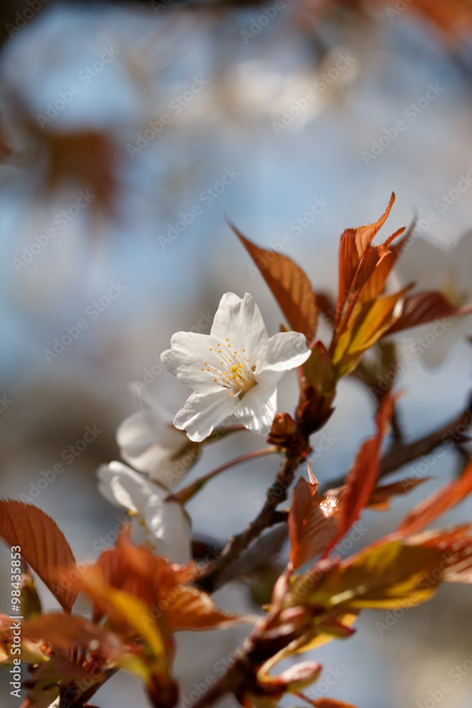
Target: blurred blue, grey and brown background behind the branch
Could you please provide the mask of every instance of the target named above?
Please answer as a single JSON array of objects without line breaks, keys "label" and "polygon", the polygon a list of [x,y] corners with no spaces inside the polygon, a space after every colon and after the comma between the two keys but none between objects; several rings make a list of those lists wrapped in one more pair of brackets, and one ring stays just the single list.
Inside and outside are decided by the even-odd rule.
[{"label": "blurred blue, grey and brown background behind the branch", "polygon": [[[396,278],[418,273],[422,287],[472,302],[470,1],[4,0],[0,36],[1,494],[34,496],[78,559],[122,518],[98,495],[95,472],[118,459],[115,428],[135,410],[129,382],[178,410],[188,389],[159,355],[175,331],[208,333],[229,290],[251,292],[270,334],[279,329],[277,304],[226,215],[334,293],[340,234],[376,221],[395,190],[384,237],[418,217]],[[454,322],[398,377],[408,439],[464,409],[471,329]],[[399,349],[420,336],[397,338]],[[282,382],[281,411],[294,408],[295,382]],[[372,430],[374,401],[355,379],[335,404],[325,430],[335,444],[313,465],[321,481],[345,472]],[[39,490],[87,426],[96,440]],[[219,442],[186,481],[262,442],[248,432]],[[429,466],[434,480],[388,513],[367,512],[355,546],[391,530],[459,462],[449,450]],[[397,476],[424,475],[424,464]],[[270,457],[212,481],[188,507],[195,534],[226,542],[258,512],[276,470]],[[444,525],[471,513],[468,500]],[[6,568],[3,547],[0,561]],[[216,597],[254,611],[247,584]],[[376,622],[386,613],[365,612],[352,639],[310,657],[326,673],[308,695],[428,708],[449,681],[442,706],[470,706],[472,670],[450,673],[470,666],[470,588],[441,588],[386,630]],[[179,636],[186,700],[221,675],[246,629]],[[1,706],[17,705],[0,679]],[[146,706],[122,673],[94,702]]]}]

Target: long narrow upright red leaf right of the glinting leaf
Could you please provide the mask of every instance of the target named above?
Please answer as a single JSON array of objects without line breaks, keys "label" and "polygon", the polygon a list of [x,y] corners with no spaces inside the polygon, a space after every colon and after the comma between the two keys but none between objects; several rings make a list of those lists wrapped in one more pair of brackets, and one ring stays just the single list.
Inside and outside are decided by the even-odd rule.
[{"label": "long narrow upright red leaf right of the glinting leaf", "polygon": [[376,479],[379,476],[380,450],[388,423],[393,415],[394,399],[386,394],[381,401],[376,415],[377,432],[366,440],[355,458],[345,486],[340,492],[340,511],[338,533],[329,544],[326,553],[337,544],[359,518],[362,509],[369,502]]}]

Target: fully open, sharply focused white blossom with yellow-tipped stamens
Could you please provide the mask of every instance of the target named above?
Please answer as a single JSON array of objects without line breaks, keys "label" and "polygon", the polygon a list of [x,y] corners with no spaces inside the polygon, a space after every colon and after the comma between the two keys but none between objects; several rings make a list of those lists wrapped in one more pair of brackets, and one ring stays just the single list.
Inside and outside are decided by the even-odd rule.
[{"label": "fully open, sharply focused white blossom with yellow-tipped stamens", "polygon": [[235,418],[267,435],[277,412],[278,382],[309,355],[303,334],[269,338],[251,295],[241,299],[227,292],[209,335],[177,332],[161,355],[164,366],[195,392],[175,416],[175,428],[201,442],[215,426]]}]

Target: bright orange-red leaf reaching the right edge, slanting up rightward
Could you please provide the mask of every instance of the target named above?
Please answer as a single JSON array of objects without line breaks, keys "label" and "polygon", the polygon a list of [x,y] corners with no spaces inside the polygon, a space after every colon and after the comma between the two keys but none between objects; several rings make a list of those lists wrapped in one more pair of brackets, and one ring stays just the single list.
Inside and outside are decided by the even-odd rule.
[{"label": "bright orange-red leaf reaching the right edge, slanting up rightward", "polygon": [[454,479],[415,506],[398,527],[401,535],[410,535],[459,504],[472,491],[472,460],[459,479]]}]

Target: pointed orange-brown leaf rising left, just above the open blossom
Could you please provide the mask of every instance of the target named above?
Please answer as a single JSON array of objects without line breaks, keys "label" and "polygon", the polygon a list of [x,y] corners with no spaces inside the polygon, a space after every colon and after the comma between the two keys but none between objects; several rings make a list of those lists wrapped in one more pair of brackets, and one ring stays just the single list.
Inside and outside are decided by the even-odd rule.
[{"label": "pointed orange-brown leaf rising left, just above the open blossom", "polygon": [[233,224],[229,225],[258,266],[290,327],[295,332],[303,333],[309,343],[313,341],[318,308],[311,282],[304,270],[288,256],[255,246]]}]

